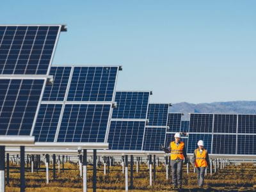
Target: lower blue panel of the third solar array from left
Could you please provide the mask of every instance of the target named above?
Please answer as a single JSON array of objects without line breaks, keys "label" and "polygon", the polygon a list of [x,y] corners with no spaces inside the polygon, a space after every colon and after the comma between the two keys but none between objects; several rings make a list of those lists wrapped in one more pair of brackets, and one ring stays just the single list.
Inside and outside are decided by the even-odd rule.
[{"label": "lower blue panel of the third solar array from left", "polygon": [[110,150],[141,150],[145,121],[111,121]]}]

